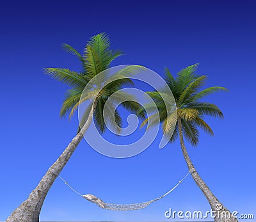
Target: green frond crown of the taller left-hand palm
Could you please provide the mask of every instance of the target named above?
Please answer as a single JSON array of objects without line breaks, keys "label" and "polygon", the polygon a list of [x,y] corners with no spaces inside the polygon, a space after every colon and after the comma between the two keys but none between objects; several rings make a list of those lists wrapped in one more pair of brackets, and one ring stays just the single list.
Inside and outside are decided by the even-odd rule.
[{"label": "green frond crown of the taller left-hand palm", "polygon": [[[45,68],[44,71],[47,75],[50,75],[54,79],[61,81],[63,83],[68,84],[71,89],[67,91],[65,99],[63,101],[60,116],[64,118],[69,113],[69,118],[72,118],[74,112],[76,111],[79,104],[81,104],[81,95],[85,86],[95,77],[97,79],[97,75],[107,70],[111,64],[111,62],[122,55],[121,51],[114,51],[110,48],[109,37],[106,33],[100,33],[98,35],[93,36],[86,47],[84,47],[83,54],[80,54],[76,49],[68,44],[63,44],[63,49],[71,54],[77,56],[77,58],[81,61],[82,70],[81,72],[74,72],[69,70],[68,68]],[[106,82],[108,76],[105,79],[98,79],[96,86],[92,86],[90,89],[90,97],[86,97],[88,100],[94,100],[97,95],[97,102],[95,103],[95,111],[93,115],[93,119],[95,124],[97,125],[100,132],[104,132],[106,130],[106,123],[103,119],[103,107],[106,104],[106,100],[109,99],[113,93],[120,90],[123,86],[133,84],[132,80],[129,79],[131,77],[132,72],[136,70],[138,67],[126,67],[120,72],[118,72],[118,79],[115,81],[109,81],[109,84],[104,85],[104,89],[99,91],[102,86],[102,82]],[[123,78],[122,78],[123,77]],[[119,93],[119,96],[120,93]],[[122,102],[120,105],[128,109],[129,111],[136,113],[138,109],[140,109],[140,105],[137,102],[132,102],[134,97],[129,95],[128,93],[122,93],[123,99],[127,102]],[[112,104],[116,102],[116,97],[111,97]],[[86,119],[90,113],[90,109],[92,108],[92,102],[84,111],[83,118],[81,120],[82,125],[86,122]],[[111,121],[111,119],[109,119]],[[122,119],[118,110],[115,111],[115,120],[118,127],[122,127]],[[114,125],[114,124],[113,124]],[[80,123],[81,127],[81,123]],[[80,127],[77,132],[79,132]],[[116,129],[118,131],[118,129]]]}]

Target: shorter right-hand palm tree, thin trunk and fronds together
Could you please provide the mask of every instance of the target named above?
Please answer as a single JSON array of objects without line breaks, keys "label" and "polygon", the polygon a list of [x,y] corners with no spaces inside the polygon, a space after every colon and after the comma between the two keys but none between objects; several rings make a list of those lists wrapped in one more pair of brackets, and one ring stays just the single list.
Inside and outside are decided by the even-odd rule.
[{"label": "shorter right-hand palm tree, thin trunk and fronds together", "polygon": [[[204,121],[204,116],[207,115],[223,118],[223,113],[221,113],[220,109],[216,105],[209,102],[202,102],[201,99],[216,91],[227,89],[214,86],[200,90],[205,83],[206,75],[195,75],[195,70],[197,67],[198,63],[184,68],[177,74],[176,78],[173,77],[168,68],[165,70],[165,81],[173,93],[175,104],[177,106],[177,119],[172,118],[172,114],[169,115],[170,117],[168,117],[166,105],[163,97],[161,97],[161,93],[158,91],[148,91],[147,93],[156,103],[157,112],[159,113],[159,121],[162,123],[164,135],[170,139],[170,143],[173,143],[177,138],[179,138],[182,154],[184,155],[193,179],[204,193],[209,204],[211,205],[211,209],[220,214],[220,217],[216,216],[215,221],[237,221],[235,218],[228,219],[225,218],[225,216],[223,216],[224,218],[221,218],[221,212],[224,215],[225,211],[229,211],[227,208],[223,207],[220,201],[214,196],[214,194],[212,194],[204,180],[202,180],[200,175],[198,175],[198,172],[189,158],[188,151],[185,147],[184,138],[186,138],[191,145],[198,145],[198,128],[213,136],[213,131],[211,127]],[[147,106],[152,107],[152,104],[147,104]],[[156,120],[154,121],[154,118],[156,118],[155,116],[156,115],[153,114],[152,116],[146,118],[143,123],[141,123],[141,127],[146,124],[148,124],[148,127],[152,127],[154,123],[157,122]],[[173,127],[174,131],[170,130],[170,128],[173,129]],[[173,134],[171,135],[171,133]],[[221,207],[222,210],[218,210]],[[227,214],[230,214],[230,212]]]}]

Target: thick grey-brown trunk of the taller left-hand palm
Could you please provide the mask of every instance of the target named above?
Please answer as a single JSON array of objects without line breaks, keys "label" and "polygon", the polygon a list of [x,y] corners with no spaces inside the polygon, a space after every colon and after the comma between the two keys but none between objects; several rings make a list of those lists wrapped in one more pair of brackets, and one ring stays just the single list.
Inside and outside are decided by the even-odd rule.
[{"label": "thick grey-brown trunk of the taller left-hand palm", "polygon": [[[94,106],[93,106],[94,107]],[[57,175],[67,164],[73,152],[76,150],[84,132],[87,131],[93,117],[93,108],[90,111],[88,119],[81,131],[72,139],[67,148],[63,151],[60,157],[47,170],[44,177],[40,180],[36,188],[29,194],[27,200],[22,202],[17,209],[6,219],[6,222],[38,222],[39,214],[49,189],[51,188]]]}]

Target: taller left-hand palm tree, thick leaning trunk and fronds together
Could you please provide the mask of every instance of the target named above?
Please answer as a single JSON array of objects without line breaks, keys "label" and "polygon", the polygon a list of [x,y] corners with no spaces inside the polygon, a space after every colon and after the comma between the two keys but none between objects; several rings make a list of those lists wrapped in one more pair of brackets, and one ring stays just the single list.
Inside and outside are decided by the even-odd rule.
[{"label": "taller left-hand palm tree, thick leaning trunk and fronds together", "polygon": [[[136,113],[140,109],[140,104],[137,102],[132,102],[133,97],[128,93],[119,93],[119,97],[110,97],[113,93],[120,90],[123,86],[132,84],[133,82],[129,77],[131,74],[138,70],[138,66],[128,66],[122,68],[114,77],[108,75],[99,75],[102,71],[109,68],[111,62],[122,55],[120,51],[113,51],[110,49],[110,42],[108,35],[105,33],[100,33],[99,35],[93,36],[86,47],[84,48],[83,55],[81,55],[76,49],[70,45],[63,44],[63,49],[70,52],[71,54],[76,55],[82,63],[82,71],[74,72],[68,70],[67,68],[45,68],[45,74],[68,84],[71,89],[67,91],[65,100],[63,101],[60,116],[61,118],[65,117],[69,113],[71,118],[74,115],[79,104],[83,100],[90,100],[90,105],[84,111],[83,118],[80,122],[80,127],[77,130],[77,134],[68,144],[67,148],[63,151],[60,157],[56,160],[54,164],[47,170],[44,177],[38,183],[38,186],[29,194],[27,200],[22,202],[17,209],[15,209],[12,214],[8,217],[6,221],[10,222],[35,222],[39,221],[39,214],[42,208],[42,205],[45,200],[49,189],[51,188],[54,180],[67,164],[73,152],[76,150],[79,142],[83,138],[83,134],[88,129],[92,120],[95,121],[100,132],[106,130],[106,123],[104,122],[103,116],[103,107],[106,103],[106,100],[111,99],[111,104],[118,102],[118,98],[122,97],[125,102],[122,102],[120,106],[125,107],[131,112]],[[104,72],[107,74],[107,72]],[[95,83],[96,82],[96,83]],[[102,84],[104,87],[102,88]],[[83,92],[84,87],[88,88],[88,85],[91,87],[88,91]],[[109,120],[111,123],[116,122],[118,127],[122,126],[122,119],[118,110],[115,111],[115,120]],[[116,129],[116,132],[119,130]]]}]

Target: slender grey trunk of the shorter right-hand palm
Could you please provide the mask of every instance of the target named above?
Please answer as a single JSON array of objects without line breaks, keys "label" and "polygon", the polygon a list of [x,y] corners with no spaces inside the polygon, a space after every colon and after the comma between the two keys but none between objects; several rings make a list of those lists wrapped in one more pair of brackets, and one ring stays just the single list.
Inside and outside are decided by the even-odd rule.
[{"label": "slender grey trunk of the shorter right-hand palm", "polygon": [[195,167],[191,162],[191,159],[189,158],[188,152],[184,144],[184,139],[182,135],[182,123],[180,118],[178,118],[177,121],[178,121],[179,138],[180,138],[180,146],[182,149],[182,154],[184,155],[189,171],[191,172],[191,175],[195,180],[196,185],[204,193],[204,196],[206,197],[209,204],[211,205],[212,211],[215,211],[214,215],[216,215],[216,217],[214,218],[214,221],[215,222],[223,222],[223,221],[238,222],[236,218],[232,217],[232,214],[230,213],[230,211],[226,207],[224,207],[222,203],[220,203],[220,201],[216,198],[216,196],[214,196],[214,194],[212,194],[211,190],[205,184],[204,180],[202,180],[202,178],[198,175],[197,171],[195,170]]}]

